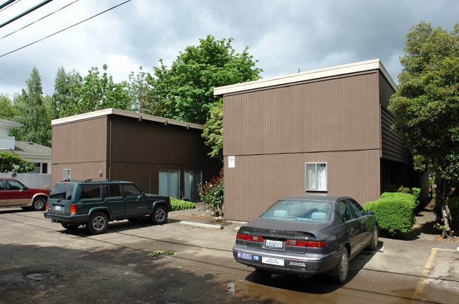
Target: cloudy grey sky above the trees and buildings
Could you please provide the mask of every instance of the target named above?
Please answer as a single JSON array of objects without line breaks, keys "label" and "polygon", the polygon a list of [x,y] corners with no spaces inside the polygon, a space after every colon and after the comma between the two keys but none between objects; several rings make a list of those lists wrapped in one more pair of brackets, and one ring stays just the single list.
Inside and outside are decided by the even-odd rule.
[{"label": "cloudy grey sky above the trees and buildings", "polygon": [[[0,11],[0,24],[42,1],[15,1]],[[33,66],[46,93],[53,92],[60,66],[85,76],[91,66],[107,64],[114,81],[127,81],[139,66],[152,72],[159,59],[169,66],[207,35],[234,38],[237,52],[249,46],[263,78],[379,58],[397,82],[412,25],[427,21],[451,30],[459,22],[457,0],[131,0],[64,30],[124,1],[54,0],[2,26],[0,94],[20,93]]]}]

